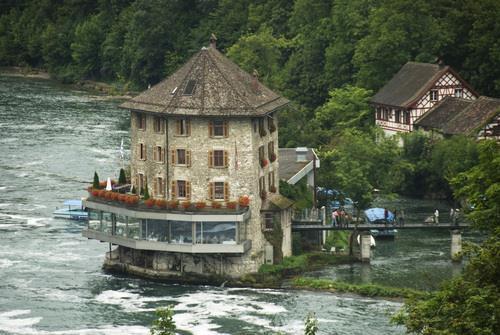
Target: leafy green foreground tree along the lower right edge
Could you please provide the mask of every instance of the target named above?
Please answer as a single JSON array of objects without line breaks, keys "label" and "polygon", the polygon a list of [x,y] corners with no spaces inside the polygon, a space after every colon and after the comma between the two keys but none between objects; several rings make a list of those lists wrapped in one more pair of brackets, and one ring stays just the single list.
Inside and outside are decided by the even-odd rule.
[{"label": "leafy green foreground tree along the lower right edge", "polygon": [[455,196],[471,205],[467,217],[490,234],[466,250],[462,275],[425,298],[411,298],[394,317],[409,332],[423,335],[500,333],[500,144],[479,144],[479,163],[452,181]]}]

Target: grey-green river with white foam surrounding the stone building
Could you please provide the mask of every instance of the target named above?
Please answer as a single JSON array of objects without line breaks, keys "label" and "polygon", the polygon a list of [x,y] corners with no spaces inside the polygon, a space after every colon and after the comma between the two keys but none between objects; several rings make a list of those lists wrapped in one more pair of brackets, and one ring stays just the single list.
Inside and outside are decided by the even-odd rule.
[{"label": "grey-green river with white foam surrounding the stone building", "polygon": [[[182,334],[300,334],[308,312],[319,334],[404,334],[389,322],[397,302],[104,273],[108,245],[52,211],[85,196],[95,170],[116,176],[122,138],[129,147],[129,114],[117,105],[50,81],[0,76],[0,334],[148,334],[155,308],[168,304]],[[448,233],[412,234],[377,247],[369,268],[310,275],[434,288],[460,271],[449,262]]]}]

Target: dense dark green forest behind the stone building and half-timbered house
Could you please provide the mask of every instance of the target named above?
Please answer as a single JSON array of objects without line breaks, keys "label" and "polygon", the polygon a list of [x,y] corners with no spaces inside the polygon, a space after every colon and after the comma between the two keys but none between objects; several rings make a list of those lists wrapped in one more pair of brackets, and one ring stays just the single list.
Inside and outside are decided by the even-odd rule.
[{"label": "dense dark green forest behind the stone building and half-timbered house", "polygon": [[370,97],[404,63],[443,60],[480,94],[500,96],[498,0],[2,1],[0,65],[141,90],[211,33],[292,101],[280,146],[319,148],[321,185],[360,206],[373,188],[450,197],[449,178],[477,161],[467,138],[411,134],[400,148],[373,127]]}]

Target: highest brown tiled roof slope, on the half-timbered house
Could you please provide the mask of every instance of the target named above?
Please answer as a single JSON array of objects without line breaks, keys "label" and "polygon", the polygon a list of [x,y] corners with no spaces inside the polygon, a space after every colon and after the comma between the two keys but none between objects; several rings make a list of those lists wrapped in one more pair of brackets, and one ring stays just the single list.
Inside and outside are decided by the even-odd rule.
[{"label": "highest brown tiled roof slope, on the half-timbered house", "polygon": [[382,87],[371,102],[389,106],[409,107],[440,78],[449,66],[408,62]]}]

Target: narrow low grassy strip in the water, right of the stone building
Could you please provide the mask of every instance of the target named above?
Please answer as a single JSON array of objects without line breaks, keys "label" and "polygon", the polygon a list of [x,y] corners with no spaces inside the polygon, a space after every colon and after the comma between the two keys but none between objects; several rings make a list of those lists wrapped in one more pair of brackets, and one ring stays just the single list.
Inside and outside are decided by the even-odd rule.
[{"label": "narrow low grassy strip in the water, right of the stone building", "polygon": [[376,284],[350,284],[329,279],[298,277],[293,279],[295,288],[355,293],[366,297],[408,298],[427,295],[427,292],[408,288],[389,287]]}]

